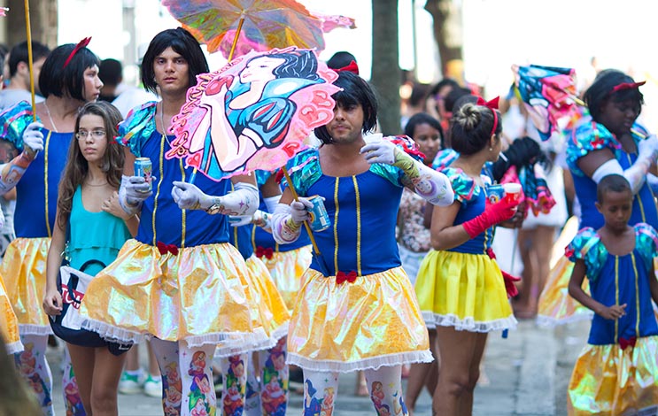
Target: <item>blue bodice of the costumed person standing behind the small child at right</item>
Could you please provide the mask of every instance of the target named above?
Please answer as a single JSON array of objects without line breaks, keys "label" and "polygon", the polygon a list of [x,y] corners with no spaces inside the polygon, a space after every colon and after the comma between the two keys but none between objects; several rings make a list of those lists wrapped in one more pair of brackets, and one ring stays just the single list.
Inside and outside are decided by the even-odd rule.
[{"label": "blue bodice of the costumed person standing behind the small child at right", "polygon": [[[645,131],[637,123],[633,125],[633,129]],[[594,205],[597,200],[596,183],[580,170],[577,165],[578,159],[583,158],[593,150],[609,149],[614,153],[615,159],[622,166],[622,169],[626,170],[635,163],[638,155],[623,151],[615,136],[602,124],[593,122],[589,115],[585,115],[584,119],[578,123],[576,129],[570,134],[571,140],[568,140],[567,147],[567,164],[572,173],[576,195],[581,205],[580,227],[599,229],[603,227],[603,216]],[[633,139],[636,144],[642,140],[639,135],[635,134],[633,134]],[[658,211],[654,202],[654,193],[646,182],[633,198],[633,210],[629,224],[634,225],[639,222],[646,222],[652,227],[658,227]]]}]

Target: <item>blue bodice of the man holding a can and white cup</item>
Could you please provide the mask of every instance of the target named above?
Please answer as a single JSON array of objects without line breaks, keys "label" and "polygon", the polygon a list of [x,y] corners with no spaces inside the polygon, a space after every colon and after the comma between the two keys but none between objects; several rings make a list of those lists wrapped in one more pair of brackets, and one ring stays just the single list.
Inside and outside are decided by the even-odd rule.
[{"label": "blue bodice of the man holding a can and white cup", "polygon": [[[395,224],[404,173],[375,164],[357,175],[327,176],[321,172],[317,149],[300,152],[288,170],[299,196],[324,197],[331,226],[314,232],[314,237],[326,273],[368,275],[400,266]],[[319,261],[314,257],[311,268],[323,273]]]}]

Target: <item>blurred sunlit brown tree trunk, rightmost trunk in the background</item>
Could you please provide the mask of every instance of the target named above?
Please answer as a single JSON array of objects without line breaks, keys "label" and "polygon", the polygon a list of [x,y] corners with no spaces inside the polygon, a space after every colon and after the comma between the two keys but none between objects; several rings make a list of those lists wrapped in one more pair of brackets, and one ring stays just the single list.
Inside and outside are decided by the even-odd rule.
[{"label": "blurred sunlit brown tree trunk, rightmost trunk in the background", "polygon": [[462,58],[461,9],[453,4],[453,0],[427,0],[425,10],[434,19],[434,38],[441,58],[441,73],[445,75],[445,64]]}]

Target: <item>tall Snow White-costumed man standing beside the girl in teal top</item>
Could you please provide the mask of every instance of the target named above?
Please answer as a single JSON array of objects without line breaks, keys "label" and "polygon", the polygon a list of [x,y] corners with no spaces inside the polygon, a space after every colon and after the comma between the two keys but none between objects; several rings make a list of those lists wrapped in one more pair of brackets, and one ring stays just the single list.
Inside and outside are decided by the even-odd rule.
[{"label": "tall Snow White-costumed man standing beside the girl in teal top", "polygon": [[[185,182],[192,169],[181,159],[165,158],[174,140],[166,135],[166,122],[180,112],[196,76],[207,72],[203,52],[186,30],[168,29],[151,41],[142,81],[162,101],[135,108],[117,138],[127,155],[120,204],[140,216],[139,228],[91,282],[81,306],[86,327],[106,338],[137,342],[151,337],[167,415],[215,414],[215,353],[233,358],[222,368],[224,380],[233,381],[225,397],[236,397],[228,405],[241,408],[248,351],[270,336],[256,312],[257,300],[245,288],[244,259],[228,242],[228,214],[247,215],[258,206],[255,181],[197,177],[192,185]],[[135,158],[151,160],[151,181],[134,175]],[[229,193],[231,182],[235,191]]]}]

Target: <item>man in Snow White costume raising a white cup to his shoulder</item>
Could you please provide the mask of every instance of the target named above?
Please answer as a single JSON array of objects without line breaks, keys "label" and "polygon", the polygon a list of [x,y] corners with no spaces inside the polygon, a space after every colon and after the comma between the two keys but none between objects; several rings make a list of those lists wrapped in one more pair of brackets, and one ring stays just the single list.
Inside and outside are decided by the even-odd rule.
[{"label": "man in Snow White costume raising a white cup to his shoulder", "polygon": [[[377,412],[407,414],[401,366],[430,362],[427,330],[400,266],[395,225],[403,187],[433,204],[451,204],[442,173],[405,150],[408,139],[366,143],[376,100],[358,75],[340,72],[334,119],[315,130],[324,143],[290,160],[293,201],[285,189],[272,220],[277,243],[294,242],[309,220],[315,194],[325,200],[331,227],[314,233],[321,256],[302,277],[292,311],[290,364],[305,378],[305,412],[333,412],[338,373],[363,370]],[[398,145],[393,142],[397,142]]]}]

